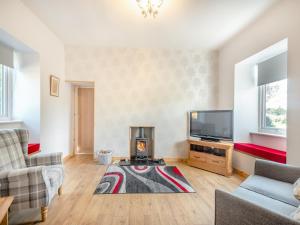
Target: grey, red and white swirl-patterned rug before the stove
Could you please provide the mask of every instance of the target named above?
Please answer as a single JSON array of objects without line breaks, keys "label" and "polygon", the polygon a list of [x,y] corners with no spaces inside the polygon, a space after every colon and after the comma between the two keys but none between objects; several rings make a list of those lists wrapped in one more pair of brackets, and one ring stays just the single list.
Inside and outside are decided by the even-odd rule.
[{"label": "grey, red and white swirl-patterned rug before the stove", "polygon": [[195,192],[176,166],[111,165],[95,194]]}]

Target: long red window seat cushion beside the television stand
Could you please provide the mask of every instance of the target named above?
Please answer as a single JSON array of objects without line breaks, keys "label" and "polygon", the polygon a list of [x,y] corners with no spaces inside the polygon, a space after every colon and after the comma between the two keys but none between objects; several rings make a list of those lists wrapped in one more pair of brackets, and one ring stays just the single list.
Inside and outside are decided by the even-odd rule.
[{"label": "long red window seat cushion beside the television stand", "polygon": [[234,149],[259,158],[286,164],[286,152],[251,143],[235,143]]}]

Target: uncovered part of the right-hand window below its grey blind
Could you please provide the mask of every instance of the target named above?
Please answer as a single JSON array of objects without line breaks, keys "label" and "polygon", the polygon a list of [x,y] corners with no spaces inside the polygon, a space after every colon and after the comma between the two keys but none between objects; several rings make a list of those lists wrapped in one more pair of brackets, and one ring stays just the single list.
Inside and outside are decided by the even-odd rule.
[{"label": "uncovered part of the right-hand window below its grey blind", "polygon": [[287,79],[259,86],[260,131],[286,134]]}]

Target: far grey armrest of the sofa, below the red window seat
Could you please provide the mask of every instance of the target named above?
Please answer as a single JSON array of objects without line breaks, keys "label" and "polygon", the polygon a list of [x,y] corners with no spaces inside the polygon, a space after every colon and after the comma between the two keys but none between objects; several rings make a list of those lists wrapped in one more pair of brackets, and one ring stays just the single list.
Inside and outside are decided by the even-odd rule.
[{"label": "far grey armrest of the sofa, below the red window seat", "polygon": [[300,177],[300,167],[257,159],[254,173],[293,184]]}]

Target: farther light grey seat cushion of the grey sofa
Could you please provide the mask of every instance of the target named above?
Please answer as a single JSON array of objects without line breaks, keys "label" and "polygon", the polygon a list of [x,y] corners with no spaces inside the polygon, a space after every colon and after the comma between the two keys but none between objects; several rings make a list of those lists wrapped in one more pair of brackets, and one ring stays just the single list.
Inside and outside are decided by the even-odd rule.
[{"label": "farther light grey seat cushion of the grey sofa", "polygon": [[300,205],[300,201],[293,194],[293,184],[290,183],[253,175],[241,187],[295,207]]}]

